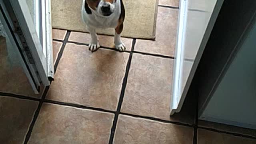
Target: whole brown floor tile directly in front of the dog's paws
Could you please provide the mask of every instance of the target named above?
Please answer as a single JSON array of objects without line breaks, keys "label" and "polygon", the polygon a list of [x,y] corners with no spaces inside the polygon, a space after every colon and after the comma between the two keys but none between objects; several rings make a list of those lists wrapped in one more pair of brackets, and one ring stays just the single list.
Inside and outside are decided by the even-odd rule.
[{"label": "whole brown floor tile directly in front of the dog's paws", "polygon": [[129,54],[68,43],[47,99],[116,110]]}]

